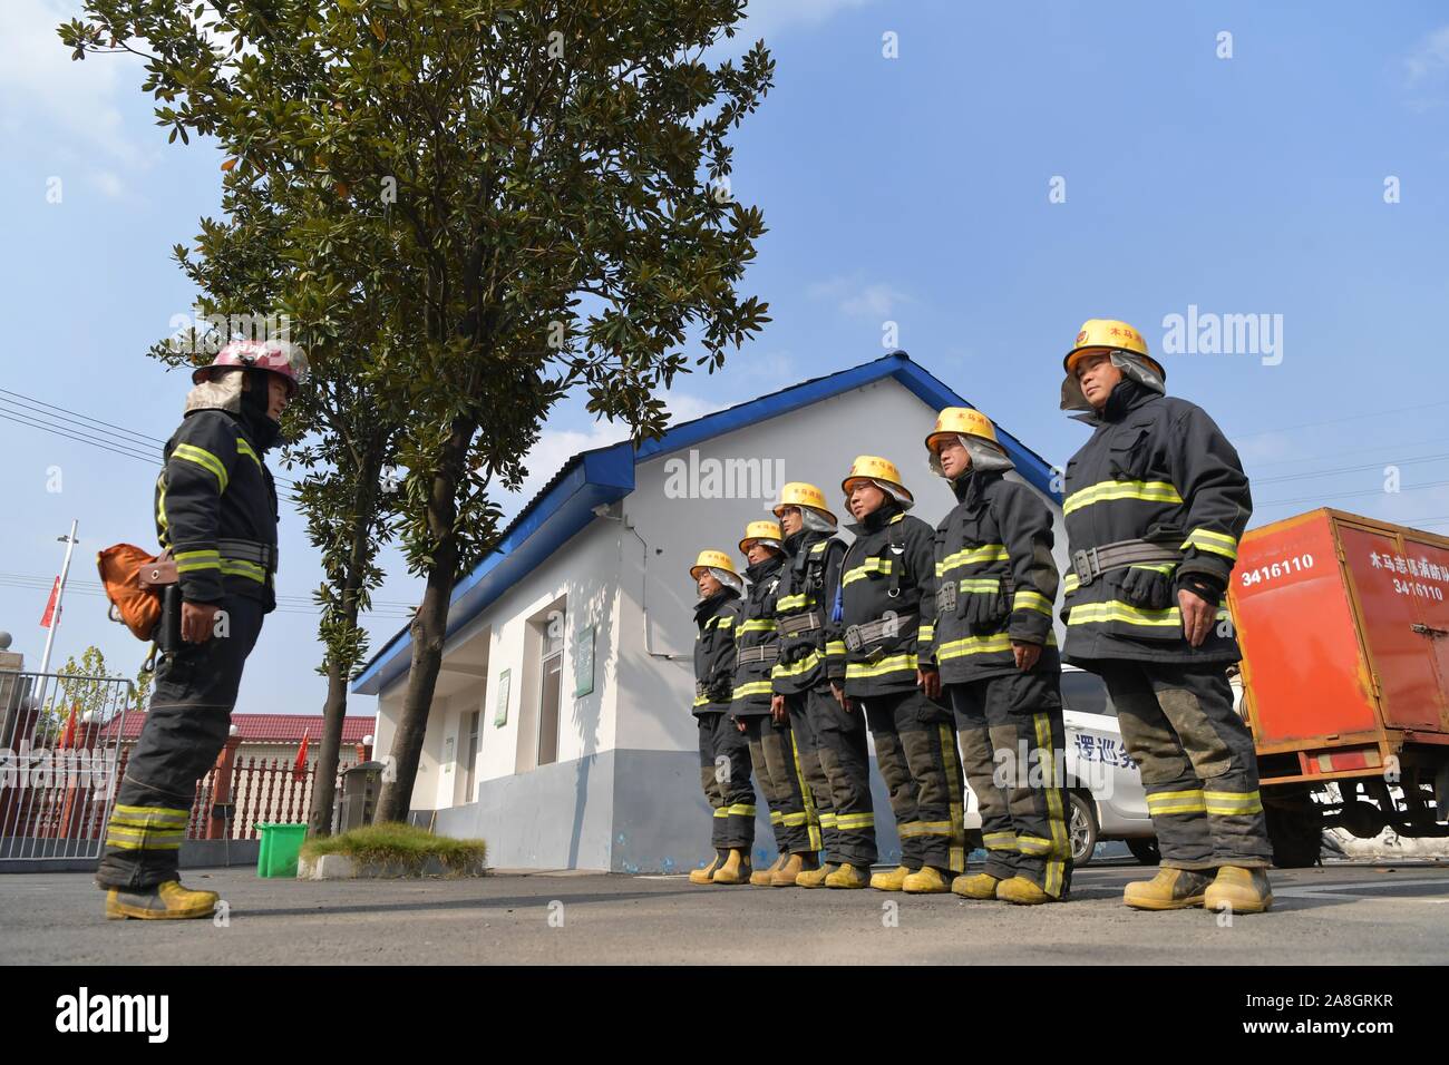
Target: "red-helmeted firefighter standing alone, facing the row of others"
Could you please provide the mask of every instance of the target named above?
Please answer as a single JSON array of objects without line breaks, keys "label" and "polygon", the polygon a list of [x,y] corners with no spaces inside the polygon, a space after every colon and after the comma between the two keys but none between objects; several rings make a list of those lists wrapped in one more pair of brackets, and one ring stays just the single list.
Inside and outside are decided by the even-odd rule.
[{"label": "red-helmeted firefighter standing alone, facing the row of others", "polygon": [[152,510],[180,617],[162,620],[151,709],[106,826],[96,882],[109,919],[207,917],[219,901],[181,885],[178,856],[196,782],[226,742],[242,667],[277,606],[277,490],[264,456],[304,371],[291,345],[227,343],[191,375],[162,451]]}]

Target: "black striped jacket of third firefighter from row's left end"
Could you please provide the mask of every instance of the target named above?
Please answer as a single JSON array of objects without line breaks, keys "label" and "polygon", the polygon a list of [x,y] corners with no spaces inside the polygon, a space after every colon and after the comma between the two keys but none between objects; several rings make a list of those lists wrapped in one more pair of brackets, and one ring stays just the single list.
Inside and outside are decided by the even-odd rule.
[{"label": "black striped jacket of third firefighter from row's left end", "polygon": [[775,694],[796,696],[829,680],[845,680],[845,643],[832,617],[845,543],[830,533],[801,530],[787,536],[782,546],[788,561],[775,590],[775,626],[806,616],[813,626],[780,636],[780,661],[771,674]]}]

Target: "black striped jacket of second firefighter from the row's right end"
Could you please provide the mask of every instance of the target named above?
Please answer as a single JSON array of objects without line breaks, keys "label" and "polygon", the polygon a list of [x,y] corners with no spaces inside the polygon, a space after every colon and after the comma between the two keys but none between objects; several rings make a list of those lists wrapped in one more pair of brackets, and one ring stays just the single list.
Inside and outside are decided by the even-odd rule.
[{"label": "black striped jacket of second firefighter from the row's right end", "polygon": [[936,527],[933,658],[942,684],[1017,672],[1011,643],[1042,646],[1037,669],[1061,669],[1052,603],[1052,511],[1003,472],[951,484],[956,506]]}]

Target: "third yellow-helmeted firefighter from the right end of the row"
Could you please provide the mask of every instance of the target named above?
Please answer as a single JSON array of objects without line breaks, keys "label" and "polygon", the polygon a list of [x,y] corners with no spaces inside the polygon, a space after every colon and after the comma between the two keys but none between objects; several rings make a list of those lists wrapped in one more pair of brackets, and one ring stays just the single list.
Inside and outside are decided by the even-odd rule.
[{"label": "third yellow-helmeted firefighter from the right end of the row", "polygon": [[[916,501],[884,458],[861,455],[840,487],[856,523],[840,567],[845,682],[835,691],[846,711],[865,707],[901,840],[900,866],[869,885],[945,893],[965,871],[965,832],[956,735],[930,656],[935,530],[906,513]],[[864,872],[842,864],[833,875],[864,882]]]}]

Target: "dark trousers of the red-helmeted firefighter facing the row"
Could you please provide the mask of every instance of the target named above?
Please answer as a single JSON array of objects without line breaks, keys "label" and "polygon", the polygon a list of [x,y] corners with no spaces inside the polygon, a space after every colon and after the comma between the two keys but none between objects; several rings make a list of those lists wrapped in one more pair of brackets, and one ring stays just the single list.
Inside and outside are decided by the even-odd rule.
[{"label": "dark trousers of the red-helmeted firefighter facing the row", "polygon": [[141,726],[96,869],[103,887],[148,888],[177,880],[181,840],[196,782],[226,745],[242,667],[262,630],[262,604],[227,596],[204,643],[187,643],[156,668],[151,709]]}]

